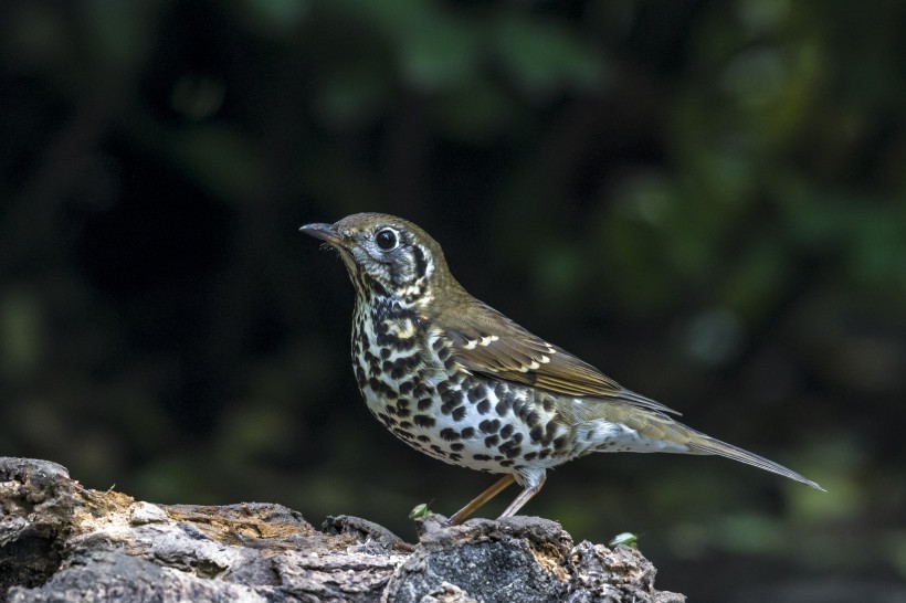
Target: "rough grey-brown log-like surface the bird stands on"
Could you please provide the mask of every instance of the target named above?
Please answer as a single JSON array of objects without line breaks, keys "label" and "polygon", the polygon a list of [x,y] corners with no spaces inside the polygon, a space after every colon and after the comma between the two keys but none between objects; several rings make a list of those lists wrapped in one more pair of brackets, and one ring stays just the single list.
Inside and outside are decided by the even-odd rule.
[{"label": "rough grey-brown log-like surface the bird stands on", "polygon": [[45,461],[0,458],[2,602],[682,602],[638,551],[573,544],[538,518],[436,517],[408,546],[278,505],[139,503],[83,488]]}]

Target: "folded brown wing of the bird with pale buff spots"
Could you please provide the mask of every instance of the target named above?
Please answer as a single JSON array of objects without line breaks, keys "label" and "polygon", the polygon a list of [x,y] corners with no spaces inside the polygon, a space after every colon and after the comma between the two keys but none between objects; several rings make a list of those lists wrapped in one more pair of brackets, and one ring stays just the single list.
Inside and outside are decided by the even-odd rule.
[{"label": "folded brown wing of the bird with pale buff spots", "polygon": [[524,383],[551,393],[617,400],[662,413],[678,412],[626,390],[591,364],[528,332],[478,302],[470,311],[444,317],[439,337],[470,371]]}]

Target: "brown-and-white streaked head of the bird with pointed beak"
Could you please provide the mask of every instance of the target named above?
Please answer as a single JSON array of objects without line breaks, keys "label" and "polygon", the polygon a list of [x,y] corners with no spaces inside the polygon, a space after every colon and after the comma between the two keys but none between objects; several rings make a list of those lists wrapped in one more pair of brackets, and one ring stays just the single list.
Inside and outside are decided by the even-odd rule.
[{"label": "brown-and-white streaked head of the bird with pointed beak", "polygon": [[378,295],[419,305],[431,299],[436,283],[450,278],[438,242],[402,218],[356,213],[335,224],[299,230],[339,252],[357,294],[365,298]]}]

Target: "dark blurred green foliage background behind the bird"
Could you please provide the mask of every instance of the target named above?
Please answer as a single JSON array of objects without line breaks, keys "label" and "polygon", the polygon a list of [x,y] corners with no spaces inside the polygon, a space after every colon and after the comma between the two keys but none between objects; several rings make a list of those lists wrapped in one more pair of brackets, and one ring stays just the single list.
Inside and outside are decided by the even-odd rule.
[{"label": "dark blurred green foliage background behind the bird", "polygon": [[[593,456],[525,509],[693,601],[906,600],[906,4],[6,0],[0,454],[160,503],[382,522],[407,448],[297,229],[413,220],[477,297],[723,459]],[[508,491],[484,511],[499,512]]]}]

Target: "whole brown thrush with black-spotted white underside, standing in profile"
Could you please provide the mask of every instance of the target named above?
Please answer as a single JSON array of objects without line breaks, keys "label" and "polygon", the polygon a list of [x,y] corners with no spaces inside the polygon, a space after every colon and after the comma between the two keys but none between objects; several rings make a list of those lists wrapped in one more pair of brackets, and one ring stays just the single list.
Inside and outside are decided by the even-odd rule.
[{"label": "whole brown thrush with black-spotted white underside, standing in profile", "polygon": [[678,412],[476,299],[410,221],[356,213],[299,230],[336,250],[352,282],[352,367],[371,414],[429,456],[502,475],[446,525],[516,483],[523,489],[501,515],[512,517],[548,469],[597,452],[718,455],[823,490],[680,423]]}]

